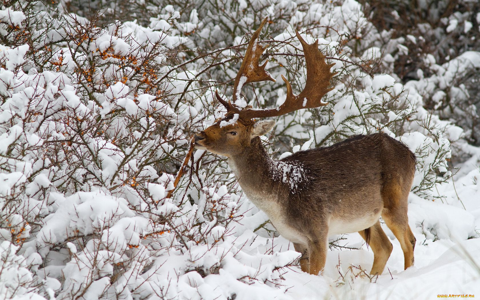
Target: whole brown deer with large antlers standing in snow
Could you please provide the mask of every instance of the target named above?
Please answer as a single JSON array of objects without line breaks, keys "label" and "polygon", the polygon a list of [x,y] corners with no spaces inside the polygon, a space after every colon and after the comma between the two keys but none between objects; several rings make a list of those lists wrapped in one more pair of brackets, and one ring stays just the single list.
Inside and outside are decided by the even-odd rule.
[{"label": "whole brown deer with large antlers standing in snow", "polygon": [[269,217],[277,232],[300,252],[301,271],[319,275],[324,270],[328,237],[358,232],[373,252],[370,274],[381,275],[393,245],[380,216],[398,239],[405,269],[413,265],[416,239],[408,225],[408,194],[415,173],[415,155],[386,133],[357,135],[326,147],[302,150],[272,159],[260,136],[270,132],[272,118],[327,105],[335,63],[326,64],[318,40],[308,44],[296,31],[306,62],[306,83],[295,95],[286,84],[287,98],[277,108],[240,108],[235,101],[245,84],[275,79],[259,60],[264,47],[258,38],[267,18],[253,33],[235,77],[232,100],[216,99],[227,109],[223,118],[194,135],[195,148],[226,156],[248,199]]}]

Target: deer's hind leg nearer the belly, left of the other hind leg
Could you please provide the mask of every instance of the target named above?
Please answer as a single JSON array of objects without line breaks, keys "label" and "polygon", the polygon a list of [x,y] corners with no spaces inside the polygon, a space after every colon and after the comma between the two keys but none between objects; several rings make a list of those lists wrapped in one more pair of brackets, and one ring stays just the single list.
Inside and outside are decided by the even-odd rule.
[{"label": "deer's hind leg nearer the belly, left of the other hind leg", "polygon": [[[370,231],[370,234],[367,234],[367,230]],[[387,264],[387,260],[390,257],[390,253],[392,253],[393,246],[390,240],[388,240],[384,229],[380,226],[380,221],[377,221],[377,223],[370,228],[359,231],[359,233],[373,251],[373,265],[370,274],[382,274],[385,264]]]}]

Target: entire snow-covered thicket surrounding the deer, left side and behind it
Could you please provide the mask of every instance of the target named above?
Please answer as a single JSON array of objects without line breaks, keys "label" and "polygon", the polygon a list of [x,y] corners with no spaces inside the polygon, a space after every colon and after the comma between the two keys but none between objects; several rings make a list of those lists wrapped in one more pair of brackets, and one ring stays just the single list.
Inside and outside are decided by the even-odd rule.
[{"label": "entire snow-covered thicket surrounding the deer, left side and behind it", "polygon": [[388,33],[353,0],[90,8],[21,0],[0,9],[0,297],[284,297],[284,272],[300,254],[282,248],[225,160],[190,141],[224,112],[214,91],[231,94],[265,16],[264,59],[277,83],[245,87],[250,105],[281,104],[281,74],[297,91],[304,85],[294,29],[319,38],[338,72],[330,105],[277,119],[265,138],[272,155],[382,131],[416,153],[413,192],[440,197],[450,142],[463,131],[427,111],[425,99],[441,100],[433,93],[456,72],[449,66],[465,60],[441,66],[442,78],[402,84],[392,70],[405,46],[382,44]]}]

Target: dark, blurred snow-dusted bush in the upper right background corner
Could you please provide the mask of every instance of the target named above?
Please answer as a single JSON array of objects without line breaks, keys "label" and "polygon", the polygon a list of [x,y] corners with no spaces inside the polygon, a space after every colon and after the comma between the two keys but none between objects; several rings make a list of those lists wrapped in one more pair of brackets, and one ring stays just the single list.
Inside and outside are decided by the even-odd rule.
[{"label": "dark, blurred snow-dusted bush in the upper right background corner", "polygon": [[[479,145],[479,1],[360,2],[382,32],[376,44],[394,58],[386,72],[403,83],[418,81],[412,85],[424,107],[462,127],[468,143]],[[465,155],[458,150],[457,156]]]}]

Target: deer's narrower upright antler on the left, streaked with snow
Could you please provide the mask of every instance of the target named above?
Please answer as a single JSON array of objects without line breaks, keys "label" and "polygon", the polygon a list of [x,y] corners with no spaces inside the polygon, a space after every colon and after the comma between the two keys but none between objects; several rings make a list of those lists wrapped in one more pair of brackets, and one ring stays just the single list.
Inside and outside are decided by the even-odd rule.
[{"label": "deer's narrower upright antler on the left, streaked with snow", "polygon": [[243,57],[243,61],[240,66],[240,70],[237,73],[237,77],[235,77],[232,102],[235,102],[237,98],[240,98],[240,90],[245,84],[267,80],[275,82],[275,79],[270,76],[270,73],[265,71],[267,62],[265,61],[262,66],[259,66],[258,64],[258,61],[265,50],[264,47],[258,44],[258,37],[260,36],[260,32],[262,31],[262,28],[267,20],[268,17],[262,21],[250,39],[247,51],[245,52],[245,56]]}]

